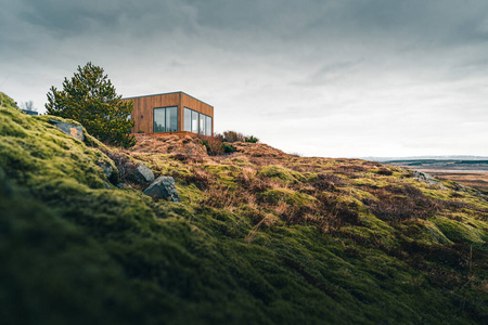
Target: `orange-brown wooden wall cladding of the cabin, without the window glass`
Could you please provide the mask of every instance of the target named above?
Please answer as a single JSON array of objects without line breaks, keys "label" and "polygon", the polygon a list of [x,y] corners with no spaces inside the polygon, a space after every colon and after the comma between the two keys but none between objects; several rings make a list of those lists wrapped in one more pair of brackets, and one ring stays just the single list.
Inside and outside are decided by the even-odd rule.
[{"label": "orange-brown wooden wall cladding of the cabin, without the window glass", "polygon": [[[214,107],[204,102],[194,99],[184,92],[171,92],[147,96],[128,98],[124,101],[133,101],[132,119],[134,127],[132,133],[144,132],[154,133],[154,108],[158,107],[178,107],[178,133],[184,131],[183,108],[190,108],[195,112],[211,117],[211,134],[214,134]],[[176,133],[176,132],[172,132]]]}]

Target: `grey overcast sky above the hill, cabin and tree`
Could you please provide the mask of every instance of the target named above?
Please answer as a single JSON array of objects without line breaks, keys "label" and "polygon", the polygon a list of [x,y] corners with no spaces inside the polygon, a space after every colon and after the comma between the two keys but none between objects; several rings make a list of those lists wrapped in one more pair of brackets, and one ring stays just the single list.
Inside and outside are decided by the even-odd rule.
[{"label": "grey overcast sky above the hill, cabin and tree", "polygon": [[215,130],[323,157],[488,155],[486,0],[0,0],[0,91],[44,110],[78,65],[184,91]]}]

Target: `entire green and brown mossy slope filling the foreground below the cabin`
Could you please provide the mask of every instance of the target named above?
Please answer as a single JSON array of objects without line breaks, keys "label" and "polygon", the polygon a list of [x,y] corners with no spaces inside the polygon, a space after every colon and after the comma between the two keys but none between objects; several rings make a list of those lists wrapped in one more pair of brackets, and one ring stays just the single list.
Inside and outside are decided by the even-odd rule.
[{"label": "entire green and brown mossy slope filling the foreground below the cabin", "polygon": [[360,160],[132,154],[176,178],[183,202],[155,203],[105,190],[107,158],[46,119],[0,109],[8,324],[487,317],[488,204],[473,192]]}]

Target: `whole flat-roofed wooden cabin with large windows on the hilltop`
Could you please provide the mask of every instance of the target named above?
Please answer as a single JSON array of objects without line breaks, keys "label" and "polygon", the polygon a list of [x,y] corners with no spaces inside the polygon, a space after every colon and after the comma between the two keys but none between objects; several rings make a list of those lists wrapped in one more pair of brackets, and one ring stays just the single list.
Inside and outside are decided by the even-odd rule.
[{"label": "whole flat-roofed wooden cabin with large windows on the hilltop", "polygon": [[132,133],[214,134],[214,106],[182,91],[123,100],[133,101]]}]

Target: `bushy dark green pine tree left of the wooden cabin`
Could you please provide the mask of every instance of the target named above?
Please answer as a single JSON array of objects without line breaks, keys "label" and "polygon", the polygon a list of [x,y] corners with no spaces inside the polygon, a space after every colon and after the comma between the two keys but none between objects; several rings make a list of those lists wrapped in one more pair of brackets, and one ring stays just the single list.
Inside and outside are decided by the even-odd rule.
[{"label": "bushy dark green pine tree left of the wooden cabin", "polygon": [[121,147],[136,144],[136,138],[129,134],[133,102],[121,101],[103,68],[91,62],[78,66],[70,80],[64,78],[63,90],[51,87],[46,108],[50,115],[79,121],[104,143]]}]

